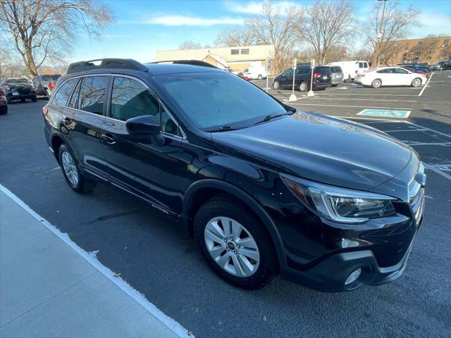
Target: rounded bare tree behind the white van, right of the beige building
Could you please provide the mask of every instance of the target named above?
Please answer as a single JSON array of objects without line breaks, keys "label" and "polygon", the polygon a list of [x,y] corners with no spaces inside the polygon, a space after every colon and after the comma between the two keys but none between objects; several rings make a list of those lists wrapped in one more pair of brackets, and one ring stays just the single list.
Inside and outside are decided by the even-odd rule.
[{"label": "rounded bare tree behind the white van, right of the beige building", "polygon": [[304,39],[314,47],[319,63],[326,63],[331,48],[345,45],[352,37],[353,13],[349,0],[316,0],[307,7],[299,29]]}]

